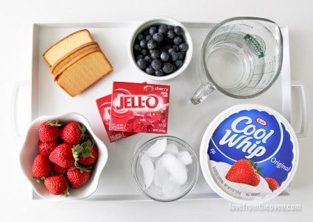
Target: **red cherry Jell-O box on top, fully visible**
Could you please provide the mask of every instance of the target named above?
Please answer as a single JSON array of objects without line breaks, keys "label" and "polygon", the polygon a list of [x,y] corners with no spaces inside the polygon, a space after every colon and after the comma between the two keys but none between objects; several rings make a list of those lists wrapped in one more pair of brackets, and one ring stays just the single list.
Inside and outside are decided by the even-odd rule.
[{"label": "red cherry Jell-O box on top, fully visible", "polygon": [[110,130],[166,134],[170,86],[113,82]]}]

